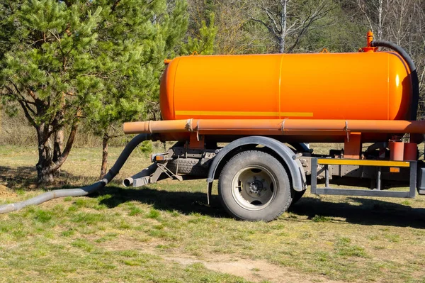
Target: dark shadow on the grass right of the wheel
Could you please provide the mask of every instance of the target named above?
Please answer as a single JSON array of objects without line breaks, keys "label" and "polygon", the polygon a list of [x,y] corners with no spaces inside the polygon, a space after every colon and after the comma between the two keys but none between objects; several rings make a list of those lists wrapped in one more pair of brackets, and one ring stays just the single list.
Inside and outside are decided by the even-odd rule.
[{"label": "dark shadow on the grass right of the wheel", "polygon": [[307,196],[300,199],[290,211],[308,216],[309,219],[319,215],[346,218],[344,222],[361,225],[425,228],[425,208],[360,197],[347,197],[346,201],[358,204],[336,203]]}]

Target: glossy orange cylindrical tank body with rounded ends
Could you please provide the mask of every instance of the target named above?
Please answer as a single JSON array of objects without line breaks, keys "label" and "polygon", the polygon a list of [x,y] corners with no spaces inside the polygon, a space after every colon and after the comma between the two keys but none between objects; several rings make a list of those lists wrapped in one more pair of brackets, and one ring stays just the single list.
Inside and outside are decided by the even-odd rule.
[{"label": "glossy orange cylindrical tank body with rounded ends", "polygon": [[409,70],[395,52],[177,57],[162,76],[164,120],[409,119]]}]

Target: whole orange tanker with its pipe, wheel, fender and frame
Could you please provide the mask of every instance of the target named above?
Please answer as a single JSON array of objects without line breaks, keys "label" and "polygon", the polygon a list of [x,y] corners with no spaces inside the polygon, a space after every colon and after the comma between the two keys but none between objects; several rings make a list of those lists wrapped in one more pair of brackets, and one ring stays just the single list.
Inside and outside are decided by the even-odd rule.
[{"label": "whole orange tanker with its pipe, wheel, fender and frame", "polygon": [[[367,42],[354,53],[166,60],[163,121],[125,123],[124,131],[176,144],[152,155],[153,164],[123,184],[206,178],[209,201],[218,179],[223,207],[248,221],[277,218],[307,184],[312,194],[425,194],[417,150],[425,122],[416,121],[416,67],[396,45],[374,41],[372,33]],[[344,149],[317,155],[304,145],[312,142],[344,143]],[[365,143],[370,145],[363,150]]]}]

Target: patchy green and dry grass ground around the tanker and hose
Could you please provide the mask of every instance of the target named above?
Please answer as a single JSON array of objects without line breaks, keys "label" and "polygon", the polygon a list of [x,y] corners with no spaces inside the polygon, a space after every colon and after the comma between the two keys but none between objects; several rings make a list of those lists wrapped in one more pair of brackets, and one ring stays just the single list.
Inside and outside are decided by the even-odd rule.
[{"label": "patchy green and dry grass ground around the tanker and hose", "polygon": [[[55,187],[95,181],[100,158],[98,148],[74,149]],[[12,187],[0,203],[40,194],[26,182],[35,159],[33,149],[0,146],[0,184]],[[100,194],[0,215],[0,282],[425,281],[423,196],[407,204],[307,192],[271,223],[234,221],[216,188],[206,204],[204,180],[120,186],[147,161],[135,152]],[[221,271],[240,260],[252,265],[244,274]]]}]

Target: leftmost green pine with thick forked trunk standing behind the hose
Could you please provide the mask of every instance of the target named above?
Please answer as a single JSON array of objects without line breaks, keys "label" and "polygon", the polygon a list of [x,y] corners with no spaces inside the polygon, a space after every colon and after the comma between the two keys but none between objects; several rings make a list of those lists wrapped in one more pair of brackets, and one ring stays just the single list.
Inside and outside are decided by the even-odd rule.
[{"label": "leftmost green pine with thick forked trunk standing behind the hose", "polygon": [[[84,109],[101,81],[95,62],[101,9],[53,0],[3,1],[0,9],[0,96],[8,111],[21,106],[38,136],[38,182],[52,182],[69,155]],[[69,125],[64,150],[57,136]]]}]

